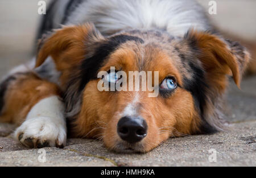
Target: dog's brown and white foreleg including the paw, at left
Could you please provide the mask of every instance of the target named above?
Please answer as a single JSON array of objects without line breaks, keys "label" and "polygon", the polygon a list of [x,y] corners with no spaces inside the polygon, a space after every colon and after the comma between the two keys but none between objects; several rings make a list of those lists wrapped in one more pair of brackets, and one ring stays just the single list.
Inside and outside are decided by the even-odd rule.
[{"label": "dog's brown and white foreleg including the paw, at left", "polygon": [[0,86],[3,122],[15,123],[15,139],[27,147],[65,146],[64,104],[57,85],[32,72],[9,76]]}]

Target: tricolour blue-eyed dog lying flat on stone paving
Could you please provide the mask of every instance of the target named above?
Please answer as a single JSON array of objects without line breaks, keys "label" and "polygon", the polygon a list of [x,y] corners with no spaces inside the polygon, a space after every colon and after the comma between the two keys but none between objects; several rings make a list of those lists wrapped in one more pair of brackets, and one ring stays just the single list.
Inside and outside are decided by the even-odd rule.
[{"label": "tricolour blue-eyed dog lying flat on stone paving", "polygon": [[[0,121],[31,148],[64,147],[68,134],[148,152],[173,136],[226,130],[229,78],[240,87],[250,60],[191,0],[52,1],[38,39],[36,59],[0,86]],[[98,90],[102,80],[117,84],[119,71],[157,71],[158,96]]]}]

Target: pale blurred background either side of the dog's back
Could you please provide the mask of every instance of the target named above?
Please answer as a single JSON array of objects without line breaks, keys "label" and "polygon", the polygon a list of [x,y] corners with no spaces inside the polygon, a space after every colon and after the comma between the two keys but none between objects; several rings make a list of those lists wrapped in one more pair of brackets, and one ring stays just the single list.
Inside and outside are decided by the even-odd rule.
[{"label": "pale blurred background either side of the dog's back", "polygon": [[[197,1],[208,12],[209,0]],[[38,0],[0,1],[0,77],[15,65],[31,59],[36,31],[42,17],[38,14],[38,2]],[[48,5],[49,0],[46,2]],[[256,1],[216,0],[216,2],[217,15],[209,15],[216,27],[245,42],[256,42]]]}]

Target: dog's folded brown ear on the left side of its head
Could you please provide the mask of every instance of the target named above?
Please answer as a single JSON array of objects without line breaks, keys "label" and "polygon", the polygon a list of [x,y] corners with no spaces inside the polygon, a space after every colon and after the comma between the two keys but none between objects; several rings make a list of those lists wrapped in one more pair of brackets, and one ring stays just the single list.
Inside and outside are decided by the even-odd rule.
[{"label": "dog's folded brown ear on the left side of its head", "polygon": [[104,37],[97,31],[92,23],[80,26],[67,26],[53,31],[39,42],[38,55],[35,67],[44,63],[51,56],[59,71],[79,63],[88,53],[90,48],[86,47],[91,42],[102,40]]}]

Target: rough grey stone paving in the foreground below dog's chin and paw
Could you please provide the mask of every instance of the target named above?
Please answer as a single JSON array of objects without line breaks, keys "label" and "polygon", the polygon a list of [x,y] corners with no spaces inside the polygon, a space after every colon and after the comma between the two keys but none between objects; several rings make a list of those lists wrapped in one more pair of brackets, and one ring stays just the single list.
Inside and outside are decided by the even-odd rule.
[{"label": "rough grey stone paving in the foreground below dog's chin and paw", "polygon": [[[10,151],[18,148],[10,145],[18,143],[4,139],[0,166],[256,166],[255,128],[256,121],[243,122],[226,133],[170,138],[147,154],[118,154],[97,140],[71,139],[75,144],[64,149],[45,148],[45,163],[38,161],[38,149]],[[213,163],[209,162],[212,149],[216,151]]]}]

